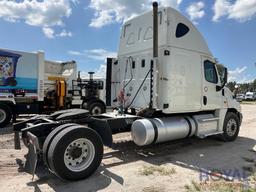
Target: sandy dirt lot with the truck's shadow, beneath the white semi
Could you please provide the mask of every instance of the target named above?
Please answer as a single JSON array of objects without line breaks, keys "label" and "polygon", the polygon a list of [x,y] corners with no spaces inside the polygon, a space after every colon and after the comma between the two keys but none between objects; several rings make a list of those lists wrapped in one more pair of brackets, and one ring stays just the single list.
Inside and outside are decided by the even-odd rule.
[{"label": "sandy dirt lot with the truck's shadow, beneath the white semi", "polygon": [[[0,191],[224,191],[226,187],[238,191],[241,184],[256,191],[256,105],[242,105],[242,110],[239,138],[232,143],[193,138],[138,148],[129,134],[119,134],[113,149],[105,149],[97,172],[79,182],[61,181],[42,166],[32,181],[23,170],[27,149],[14,150],[11,127],[4,128],[0,135]],[[208,177],[202,169],[217,169],[236,179],[227,182]],[[246,181],[240,181],[242,176]]]}]

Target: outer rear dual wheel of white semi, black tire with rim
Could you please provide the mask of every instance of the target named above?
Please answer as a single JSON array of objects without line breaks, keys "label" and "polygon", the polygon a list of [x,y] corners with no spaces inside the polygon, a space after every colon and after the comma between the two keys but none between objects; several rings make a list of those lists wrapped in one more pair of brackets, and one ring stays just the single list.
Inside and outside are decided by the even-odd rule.
[{"label": "outer rear dual wheel of white semi, black tire with rim", "polygon": [[102,157],[101,137],[96,131],[81,126],[71,126],[59,132],[48,151],[51,170],[60,178],[72,181],[93,174]]}]

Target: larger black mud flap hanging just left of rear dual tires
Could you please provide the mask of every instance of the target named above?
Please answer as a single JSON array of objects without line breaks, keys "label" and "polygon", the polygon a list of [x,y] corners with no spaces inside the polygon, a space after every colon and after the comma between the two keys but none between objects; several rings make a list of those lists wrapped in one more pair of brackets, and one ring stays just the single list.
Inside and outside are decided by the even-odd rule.
[{"label": "larger black mud flap hanging just left of rear dual tires", "polygon": [[36,146],[31,143],[28,144],[28,154],[26,159],[25,171],[30,173],[32,175],[32,180],[34,180],[37,165],[37,153]]}]

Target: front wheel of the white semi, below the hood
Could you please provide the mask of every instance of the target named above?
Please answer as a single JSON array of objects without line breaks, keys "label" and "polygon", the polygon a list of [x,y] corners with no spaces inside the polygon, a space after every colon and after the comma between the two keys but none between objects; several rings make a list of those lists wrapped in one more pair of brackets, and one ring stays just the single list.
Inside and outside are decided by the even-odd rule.
[{"label": "front wheel of the white semi, below the hood", "polygon": [[239,118],[235,113],[228,112],[224,120],[223,134],[221,135],[221,139],[225,142],[236,140],[239,129]]}]

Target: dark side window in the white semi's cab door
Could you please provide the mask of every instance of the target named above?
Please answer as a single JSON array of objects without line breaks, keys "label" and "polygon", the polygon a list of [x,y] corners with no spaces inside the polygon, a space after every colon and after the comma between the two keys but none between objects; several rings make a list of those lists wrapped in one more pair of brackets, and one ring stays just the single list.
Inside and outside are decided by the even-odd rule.
[{"label": "dark side window in the white semi's cab door", "polygon": [[204,76],[206,81],[215,84],[218,83],[216,68],[214,63],[212,63],[211,61],[207,60],[204,62]]}]

